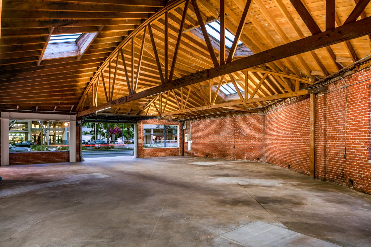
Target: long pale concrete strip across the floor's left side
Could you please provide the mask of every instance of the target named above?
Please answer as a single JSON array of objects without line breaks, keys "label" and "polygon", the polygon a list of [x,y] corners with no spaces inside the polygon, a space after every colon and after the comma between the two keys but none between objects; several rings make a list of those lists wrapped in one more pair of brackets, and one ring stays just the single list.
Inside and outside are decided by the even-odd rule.
[{"label": "long pale concrete strip across the floor's left side", "polygon": [[38,190],[41,188],[53,187],[53,186],[63,185],[63,184],[70,184],[70,183],[73,183],[79,180],[105,178],[105,177],[110,177],[110,176],[103,174],[103,173],[89,173],[89,174],[67,175],[65,177],[66,179],[63,179],[63,180],[0,190],[0,198],[5,197],[5,196],[12,196],[12,195],[23,193],[23,192],[28,192],[31,190]]}]

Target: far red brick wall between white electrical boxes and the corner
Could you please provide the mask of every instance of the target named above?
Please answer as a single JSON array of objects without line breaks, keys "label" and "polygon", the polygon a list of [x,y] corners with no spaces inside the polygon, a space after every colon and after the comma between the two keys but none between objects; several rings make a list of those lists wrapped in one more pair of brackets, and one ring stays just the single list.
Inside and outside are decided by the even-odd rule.
[{"label": "far red brick wall between white electrical boxes and the corner", "polygon": [[[189,134],[190,121],[187,121]],[[256,161],[264,159],[263,115],[191,121],[191,151],[184,155]],[[184,131],[185,133],[185,131]]]}]

